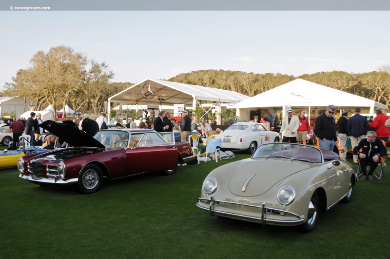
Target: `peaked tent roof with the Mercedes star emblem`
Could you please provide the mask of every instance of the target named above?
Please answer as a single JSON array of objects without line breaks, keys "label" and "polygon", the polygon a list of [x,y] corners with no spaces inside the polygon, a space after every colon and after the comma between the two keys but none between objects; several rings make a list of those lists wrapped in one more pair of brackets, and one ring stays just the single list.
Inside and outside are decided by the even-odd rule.
[{"label": "peaked tent roof with the Mercedes star emblem", "polygon": [[[147,92],[151,85],[151,99],[145,99],[142,89]],[[153,96],[153,97],[152,97]],[[138,104],[187,104],[193,105],[193,100],[237,103],[248,99],[248,96],[230,90],[217,89],[199,85],[177,83],[164,80],[145,79],[122,92],[110,97],[110,102]]]}]

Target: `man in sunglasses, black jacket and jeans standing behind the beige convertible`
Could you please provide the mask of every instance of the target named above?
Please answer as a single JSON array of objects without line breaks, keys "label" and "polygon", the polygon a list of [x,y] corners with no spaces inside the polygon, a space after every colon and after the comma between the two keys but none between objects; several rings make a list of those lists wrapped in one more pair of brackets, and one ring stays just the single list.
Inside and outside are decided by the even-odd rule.
[{"label": "man in sunglasses, black jacket and jeans standing behind the beige convertible", "polygon": [[320,148],[333,151],[334,144],[337,141],[336,136],[336,121],[334,120],[334,113],[336,107],[328,105],[323,114],[315,120],[314,134],[318,138]]}]

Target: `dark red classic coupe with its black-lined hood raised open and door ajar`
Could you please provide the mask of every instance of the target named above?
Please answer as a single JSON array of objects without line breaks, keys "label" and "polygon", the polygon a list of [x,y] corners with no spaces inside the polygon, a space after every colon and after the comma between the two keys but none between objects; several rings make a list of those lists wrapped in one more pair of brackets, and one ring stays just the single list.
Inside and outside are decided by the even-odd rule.
[{"label": "dark red classic coupe with its black-lined hood raised open and door ajar", "polygon": [[195,159],[187,142],[172,132],[150,129],[101,130],[91,137],[78,128],[48,120],[39,125],[71,148],[21,157],[20,178],[39,185],[77,184],[83,194],[97,192],[103,177],[120,179],[147,172],[176,172],[177,164]]}]

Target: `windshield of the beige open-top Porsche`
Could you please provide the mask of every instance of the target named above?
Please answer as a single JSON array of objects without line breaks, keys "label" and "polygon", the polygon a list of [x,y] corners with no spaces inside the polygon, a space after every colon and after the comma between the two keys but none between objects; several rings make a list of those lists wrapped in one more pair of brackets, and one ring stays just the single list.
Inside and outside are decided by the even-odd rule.
[{"label": "windshield of the beige open-top Porsche", "polygon": [[282,158],[322,163],[322,152],[312,146],[291,143],[269,143],[259,146],[252,158]]}]

